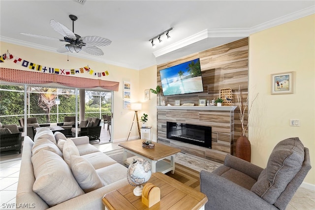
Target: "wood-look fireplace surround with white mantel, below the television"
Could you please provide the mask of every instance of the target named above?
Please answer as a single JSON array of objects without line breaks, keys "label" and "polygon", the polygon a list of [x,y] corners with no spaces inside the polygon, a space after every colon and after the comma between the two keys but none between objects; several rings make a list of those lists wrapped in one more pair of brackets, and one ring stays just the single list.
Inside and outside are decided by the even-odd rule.
[{"label": "wood-look fireplace surround with white mantel, below the television", "polygon": [[[223,163],[233,154],[234,110],[236,106],[157,106],[158,142],[182,152]],[[204,148],[166,138],[166,122],[179,122],[212,127],[212,148]]]}]

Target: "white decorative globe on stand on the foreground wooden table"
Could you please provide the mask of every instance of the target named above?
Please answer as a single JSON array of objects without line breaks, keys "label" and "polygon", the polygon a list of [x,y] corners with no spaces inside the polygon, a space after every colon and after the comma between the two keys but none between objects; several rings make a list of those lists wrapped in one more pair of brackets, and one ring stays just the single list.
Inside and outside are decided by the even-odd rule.
[{"label": "white decorative globe on stand on the foreground wooden table", "polygon": [[151,164],[148,160],[143,158],[133,159],[127,170],[127,180],[132,186],[137,186],[133,190],[134,195],[141,196],[143,188],[141,184],[147,182],[151,174]]}]

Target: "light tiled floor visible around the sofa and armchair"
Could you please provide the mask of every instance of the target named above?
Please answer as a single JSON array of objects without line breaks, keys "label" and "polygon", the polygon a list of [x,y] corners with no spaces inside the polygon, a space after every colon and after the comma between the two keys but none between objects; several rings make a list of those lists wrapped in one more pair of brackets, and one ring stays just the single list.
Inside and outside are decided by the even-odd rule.
[{"label": "light tiled floor visible around the sofa and armchair", "polygon": [[[102,152],[121,149],[118,143],[96,145]],[[189,164],[194,158],[189,158]],[[200,164],[202,161],[198,161]],[[180,164],[184,164],[183,160]],[[206,163],[205,163],[206,164]],[[18,185],[21,160],[0,162],[0,210],[15,209],[15,197]],[[315,191],[300,187],[286,210],[315,210]]]}]

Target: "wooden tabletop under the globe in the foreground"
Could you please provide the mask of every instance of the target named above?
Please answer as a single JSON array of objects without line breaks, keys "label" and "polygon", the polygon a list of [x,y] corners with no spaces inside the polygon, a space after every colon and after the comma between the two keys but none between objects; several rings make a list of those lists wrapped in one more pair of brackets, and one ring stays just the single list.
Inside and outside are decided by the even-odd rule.
[{"label": "wooden tabletop under the globe in the foreground", "polygon": [[[150,209],[199,210],[208,202],[207,196],[160,172],[152,174],[150,180],[160,188],[160,201]],[[105,210],[144,210],[141,196],[133,195],[130,184],[105,194],[102,199]]]}]

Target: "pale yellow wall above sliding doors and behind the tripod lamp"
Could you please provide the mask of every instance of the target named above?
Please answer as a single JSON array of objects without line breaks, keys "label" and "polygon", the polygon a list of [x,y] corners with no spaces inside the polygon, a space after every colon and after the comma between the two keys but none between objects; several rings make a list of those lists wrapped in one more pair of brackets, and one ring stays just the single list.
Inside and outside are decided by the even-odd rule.
[{"label": "pale yellow wall above sliding doors and behind the tripod lamp", "polygon": [[[0,53],[9,51],[13,56],[17,56],[21,59],[34,62],[43,66],[54,67],[54,68],[79,68],[89,65],[91,69],[96,72],[108,71],[109,75],[101,77],[102,80],[115,81],[119,82],[119,91],[114,91],[114,100],[113,100],[113,127],[114,127],[114,141],[126,140],[131,127],[131,121],[133,118],[133,112],[130,109],[123,108],[123,83],[124,81],[131,83],[131,102],[137,102],[139,100],[138,90],[139,90],[139,71],[124,68],[120,66],[110,65],[102,62],[85,60],[81,58],[69,56],[69,61],[67,61],[67,56],[58,53],[52,53],[42,50],[37,50],[29,47],[19,46],[15,44],[10,44],[6,42],[0,42]],[[71,55],[71,54],[69,54]],[[16,64],[12,60],[5,60],[5,62],[0,63],[0,66],[3,68],[14,68],[20,70],[33,71],[26,67],[23,67],[21,64]],[[89,73],[76,74],[76,77],[85,77],[98,79]],[[130,139],[136,138],[136,126],[132,127],[132,133],[130,134]]]}]

